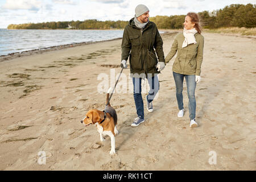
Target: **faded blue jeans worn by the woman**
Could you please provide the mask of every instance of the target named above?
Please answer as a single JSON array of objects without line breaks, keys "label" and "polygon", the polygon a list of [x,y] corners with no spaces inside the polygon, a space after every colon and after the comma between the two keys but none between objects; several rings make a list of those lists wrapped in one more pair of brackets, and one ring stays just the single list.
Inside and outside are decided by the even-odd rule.
[{"label": "faded blue jeans worn by the woman", "polygon": [[195,75],[181,75],[179,73],[174,74],[174,80],[176,85],[176,98],[177,104],[179,106],[179,110],[184,109],[183,107],[183,80],[184,77],[187,82],[187,90],[188,90],[188,109],[189,109],[189,118],[190,120],[196,118],[196,97],[195,97],[195,90],[196,90],[196,76]]}]

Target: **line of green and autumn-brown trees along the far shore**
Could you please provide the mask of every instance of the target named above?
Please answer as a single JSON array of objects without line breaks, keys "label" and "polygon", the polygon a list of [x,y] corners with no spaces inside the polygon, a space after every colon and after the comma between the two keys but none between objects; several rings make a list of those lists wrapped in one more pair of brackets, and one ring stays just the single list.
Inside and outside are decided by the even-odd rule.
[{"label": "line of green and autumn-brown trees along the far shore", "polygon": [[[200,23],[204,28],[220,28],[220,27],[256,27],[256,5],[234,4],[224,7],[224,9],[213,12],[203,11],[198,13]],[[158,28],[179,29],[183,28],[185,15],[172,16],[155,16],[150,21],[156,23]],[[26,23],[26,24],[10,24],[8,29],[122,29],[128,24],[128,21],[100,21],[96,19],[71,22],[46,22],[46,23]]]}]

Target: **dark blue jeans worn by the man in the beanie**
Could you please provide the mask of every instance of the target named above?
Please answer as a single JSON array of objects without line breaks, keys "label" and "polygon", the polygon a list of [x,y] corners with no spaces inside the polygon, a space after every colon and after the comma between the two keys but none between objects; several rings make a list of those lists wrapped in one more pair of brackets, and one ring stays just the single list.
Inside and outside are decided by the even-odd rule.
[{"label": "dark blue jeans worn by the man in the beanie", "polygon": [[[142,78],[133,77],[133,97],[135,101],[135,106],[137,110],[138,117],[144,119],[144,105],[141,95],[141,81]],[[147,101],[152,102],[159,90],[159,80],[158,76],[147,77],[148,84],[150,85],[150,90],[148,92]]]}]

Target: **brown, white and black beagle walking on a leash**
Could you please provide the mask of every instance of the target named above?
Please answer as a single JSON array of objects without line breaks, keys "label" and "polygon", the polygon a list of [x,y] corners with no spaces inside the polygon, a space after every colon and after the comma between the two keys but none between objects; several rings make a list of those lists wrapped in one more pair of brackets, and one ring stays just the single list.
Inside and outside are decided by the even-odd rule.
[{"label": "brown, white and black beagle walking on a leash", "polygon": [[[111,88],[106,94],[106,105],[109,101],[110,90]],[[117,112],[112,106],[110,106],[110,103],[108,104],[108,106],[105,107],[104,111],[100,111],[97,109],[89,110],[88,113],[86,113],[85,118],[82,119],[81,123],[83,123],[85,126],[89,126],[92,124],[95,125],[97,127],[98,133],[100,133],[101,142],[105,141],[105,135],[109,135],[111,139],[111,150],[109,154],[115,154],[115,135],[118,134]]]}]

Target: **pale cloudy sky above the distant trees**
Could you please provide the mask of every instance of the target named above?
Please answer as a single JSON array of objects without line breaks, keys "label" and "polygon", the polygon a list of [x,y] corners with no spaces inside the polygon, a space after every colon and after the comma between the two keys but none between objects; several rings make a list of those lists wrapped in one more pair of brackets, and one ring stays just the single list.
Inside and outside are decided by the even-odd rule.
[{"label": "pale cloudy sky above the distant trees", "polygon": [[238,3],[256,4],[256,0],[0,0],[0,28],[9,24],[86,19],[128,21],[139,4],[148,7],[150,16],[170,16],[213,11]]}]

